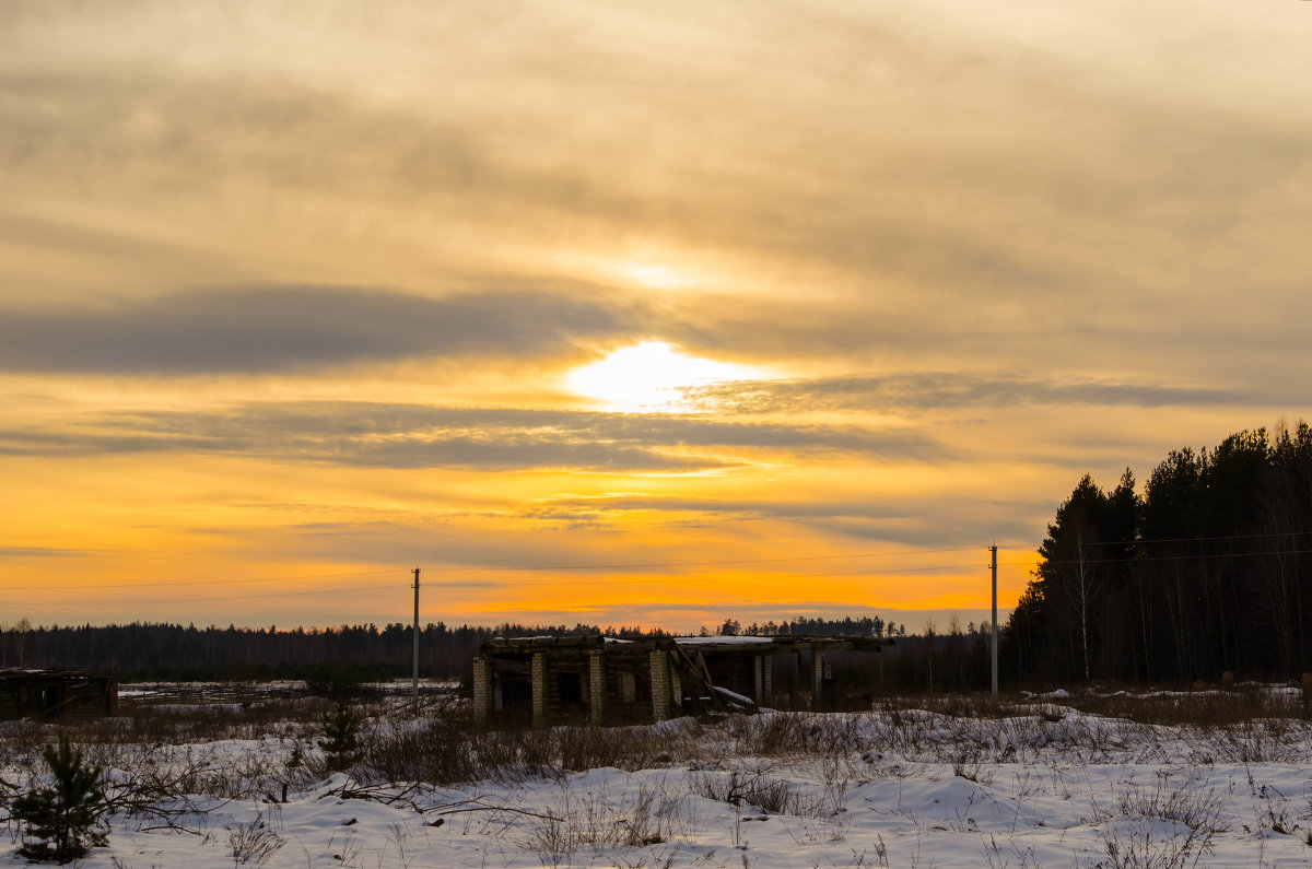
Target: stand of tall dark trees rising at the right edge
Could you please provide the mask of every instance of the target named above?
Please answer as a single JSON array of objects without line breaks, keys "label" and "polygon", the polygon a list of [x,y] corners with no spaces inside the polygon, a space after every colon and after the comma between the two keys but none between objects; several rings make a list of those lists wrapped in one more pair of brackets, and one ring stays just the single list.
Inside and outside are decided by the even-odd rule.
[{"label": "stand of tall dark trees rising at the right edge", "polygon": [[1312,429],[1172,452],[1143,494],[1085,475],[1006,626],[1022,681],[1215,681],[1312,669]]}]

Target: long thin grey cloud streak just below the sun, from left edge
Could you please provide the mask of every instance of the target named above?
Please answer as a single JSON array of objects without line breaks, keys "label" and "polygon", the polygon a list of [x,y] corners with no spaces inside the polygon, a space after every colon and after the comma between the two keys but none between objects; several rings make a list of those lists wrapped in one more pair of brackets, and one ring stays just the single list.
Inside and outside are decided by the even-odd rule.
[{"label": "long thin grey cloud streak just below the sun, from left edge", "polygon": [[0,431],[0,453],[16,456],[219,452],[366,467],[690,470],[743,461],[737,450],[946,456],[920,433],[857,427],[329,402],[112,413],[58,432]]}]

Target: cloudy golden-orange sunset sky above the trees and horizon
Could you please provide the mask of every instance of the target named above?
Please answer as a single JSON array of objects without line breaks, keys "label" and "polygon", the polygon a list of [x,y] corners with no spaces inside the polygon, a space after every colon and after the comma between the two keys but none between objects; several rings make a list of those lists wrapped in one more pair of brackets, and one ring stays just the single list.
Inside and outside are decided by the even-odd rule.
[{"label": "cloudy golden-orange sunset sky above the trees and horizon", "polygon": [[0,621],[1022,591],[1309,415],[1312,4],[0,4]]}]

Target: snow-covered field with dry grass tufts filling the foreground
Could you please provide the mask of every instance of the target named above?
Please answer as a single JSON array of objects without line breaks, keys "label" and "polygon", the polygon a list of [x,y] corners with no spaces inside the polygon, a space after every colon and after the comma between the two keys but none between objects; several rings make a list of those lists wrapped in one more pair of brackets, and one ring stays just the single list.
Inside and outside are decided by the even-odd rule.
[{"label": "snow-covered field with dry grass tufts filling the foreground", "polygon": [[[504,738],[375,709],[359,763],[331,774],[306,723],[213,742],[102,739],[84,743],[88,757],[125,790],[165,782],[157,805],[173,814],[114,815],[109,847],[79,865],[1312,865],[1305,718],[1152,725],[1068,702],[1026,697],[984,715],[908,702]],[[39,769],[52,731],[33,729],[0,731],[0,780],[21,788]],[[449,773],[442,752],[479,780],[388,781],[425,764]],[[25,865],[16,824],[0,832],[0,866]]]}]

